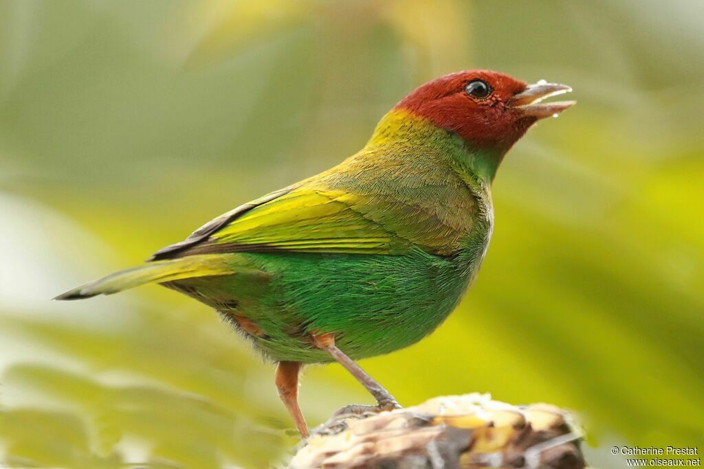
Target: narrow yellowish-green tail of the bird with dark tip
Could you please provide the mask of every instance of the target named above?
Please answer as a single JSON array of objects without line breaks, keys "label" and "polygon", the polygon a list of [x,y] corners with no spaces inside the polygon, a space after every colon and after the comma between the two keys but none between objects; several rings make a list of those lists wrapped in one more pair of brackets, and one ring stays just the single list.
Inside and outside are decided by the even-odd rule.
[{"label": "narrow yellowish-green tail of the bird with dark tip", "polygon": [[225,262],[227,257],[227,255],[205,254],[149,262],[68,290],[54,300],[81,300],[96,295],[112,295],[145,283],[164,283],[183,278],[234,274],[232,266]]}]

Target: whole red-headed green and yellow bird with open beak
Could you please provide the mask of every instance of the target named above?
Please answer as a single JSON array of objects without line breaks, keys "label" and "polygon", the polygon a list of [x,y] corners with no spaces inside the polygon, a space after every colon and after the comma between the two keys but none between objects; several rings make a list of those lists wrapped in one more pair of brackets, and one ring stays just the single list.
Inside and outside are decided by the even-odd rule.
[{"label": "whole red-headed green and yellow bird with open beak", "polygon": [[432,333],[477,276],[494,227],[491,183],[533,124],[572,91],[492,70],[422,84],[339,165],[222,214],[144,264],[58,295],[78,300],[158,283],[212,307],[276,365],[279,397],[302,437],[308,364],[341,364],[399,408],[356,361]]}]

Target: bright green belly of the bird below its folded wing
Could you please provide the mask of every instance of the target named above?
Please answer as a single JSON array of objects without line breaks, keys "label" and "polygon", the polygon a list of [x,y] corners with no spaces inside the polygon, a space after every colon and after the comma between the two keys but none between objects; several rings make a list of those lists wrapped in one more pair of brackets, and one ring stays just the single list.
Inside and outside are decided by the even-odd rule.
[{"label": "bright green belly of the bird below its folded wing", "polygon": [[265,356],[305,363],[330,361],[313,347],[312,334],[333,333],[353,359],[412,345],[446,319],[478,268],[478,259],[420,251],[244,256],[272,274],[267,285],[253,288],[237,275],[212,278],[205,296],[219,300],[205,302],[253,338]]}]

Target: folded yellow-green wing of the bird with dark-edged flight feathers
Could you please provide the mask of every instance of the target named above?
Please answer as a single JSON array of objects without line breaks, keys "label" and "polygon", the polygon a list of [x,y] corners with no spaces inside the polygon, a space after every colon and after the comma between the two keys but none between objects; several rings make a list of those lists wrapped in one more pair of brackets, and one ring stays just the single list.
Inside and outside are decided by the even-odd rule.
[{"label": "folded yellow-green wing of the bird with dark-edged flight feathers", "polygon": [[[409,240],[354,210],[349,198],[341,191],[307,187],[263,198],[260,200],[265,202],[249,210],[218,217],[190,240],[161,250],[155,259],[164,255],[277,250],[398,255],[413,248]],[[204,234],[206,231],[208,234]]]}]

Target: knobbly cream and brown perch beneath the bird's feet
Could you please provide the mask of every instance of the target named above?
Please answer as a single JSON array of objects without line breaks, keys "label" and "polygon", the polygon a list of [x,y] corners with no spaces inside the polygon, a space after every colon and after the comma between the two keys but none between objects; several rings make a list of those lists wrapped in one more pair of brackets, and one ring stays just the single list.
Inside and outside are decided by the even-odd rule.
[{"label": "knobbly cream and brown perch beneath the bird's feet", "polygon": [[338,416],[313,430],[290,469],[583,469],[581,433],[548,404],[513,406],[488,394]]}]

